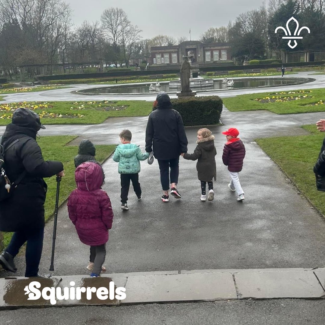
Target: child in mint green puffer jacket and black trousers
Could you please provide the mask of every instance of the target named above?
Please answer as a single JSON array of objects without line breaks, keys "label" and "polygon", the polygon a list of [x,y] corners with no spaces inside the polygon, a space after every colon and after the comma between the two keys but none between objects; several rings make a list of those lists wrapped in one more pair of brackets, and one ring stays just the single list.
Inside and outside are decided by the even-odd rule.
[{"label": "child in mint green puffer jacket and black trousers", "polygon": [[141,149],[131,143],[132,133],[129,130],[123,130],[120,133],[120,141],[122,144],[116,147],[113,160],[119,163],[119,174],[121,174],[121,209],[129,210],[127,206],[127,196],[129,194],[130,181],[136,196],[140,201],[142,199],[142,191],[139,183],[140,160],[146,160],[149,152],[142,153]]}]

